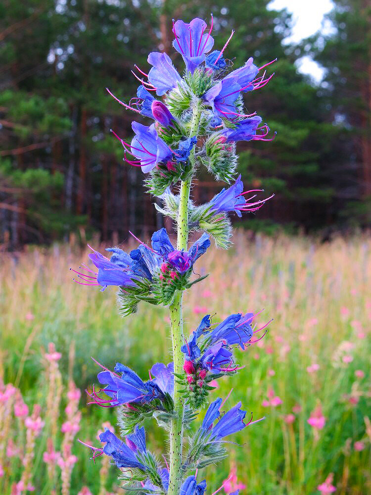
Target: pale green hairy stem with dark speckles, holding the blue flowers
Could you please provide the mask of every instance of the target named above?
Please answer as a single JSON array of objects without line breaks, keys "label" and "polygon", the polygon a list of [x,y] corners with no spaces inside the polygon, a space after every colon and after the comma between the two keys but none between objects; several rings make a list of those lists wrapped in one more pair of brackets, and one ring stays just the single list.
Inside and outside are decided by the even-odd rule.
[{"label": "pale green hairy stem with dark speckles, holding the blue flowers", "polygon": [[[189,136],[195,136],[198,131],[200,121],[200,102],[197,101],[193,110],[193,117]],[[194,166],[194,148],[191,151],[189,160]],[[182,181],[178,212],[178,249],[186,250],[188,246],[188,201],[192,178]],[[181,375],[183,373],[184,356],[181,347],[184,344],[183,338],[183,317],[182,317],[183,293],[178,292],[173,303],[169,306],[171,338],[173,343],[174,372]],[[168,495],[179,495],[183,471],[182,471],[182,451],[183,451],[183,422],[184,404],[180,393],[181,386],[174,382],[174,417],[170,427],[170,479]]]}]

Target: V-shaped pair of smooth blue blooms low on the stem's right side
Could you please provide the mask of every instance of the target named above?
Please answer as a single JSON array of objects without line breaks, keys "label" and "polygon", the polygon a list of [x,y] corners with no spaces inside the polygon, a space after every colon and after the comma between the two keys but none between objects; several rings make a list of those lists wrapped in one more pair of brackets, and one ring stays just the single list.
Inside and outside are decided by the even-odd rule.
[{"label": "V-shaped pair of smooth blue blooms low on the stem's right side", "polygon": [[222,399],[219,398],[209,405],[200,428],[201,431],[209,434],[214,441],[218,441],[246,427],[243,422],[246,411],[240,409],[241,402],[238,402],[238,404],[220,418],[215,426],[212,426],[213,422],[220,416],[219,408],[221,404]]}]

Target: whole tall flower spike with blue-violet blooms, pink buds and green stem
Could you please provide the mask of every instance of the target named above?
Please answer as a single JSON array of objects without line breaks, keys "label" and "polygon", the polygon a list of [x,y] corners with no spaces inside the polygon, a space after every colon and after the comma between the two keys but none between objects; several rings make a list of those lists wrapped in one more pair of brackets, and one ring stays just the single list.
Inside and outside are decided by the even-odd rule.
[{"label": "whole tall flower spike with blue-violet blooms, pink buds and green stem", "polygon": [[[97,379],[104,388],[93,386],[88,392],[90,403],[116,408],[124,439],[105,428],[98,436],[100,446],[82,443],[92,449],[93,459],[103,455],[116,464],[127,482],[124,488],[146,494],[204,495],[206,481],[197,482],[194,470],[226,457],[226,437],[257,422],[252,416],[244,421],[241,402],[224,412],[229,396],[217,398],[199,428],[183,442],[185,432],[191,431],[185,426],[195,420],[196,409],[213,390],[211,382],[241,369],[234,361],[234,347],[244,350],[254,344],[265,333],[256,339],[254,334],[268,325],[256,329],[252,312],[232,314],[218,324],[207,314],[189,339],[183,336],[182,293],[205,278],[190,280],[194,263],[210,246],[209,237],[218,247],[229,247],[229,215],[255,212],[272,198],[256,198],[262,190],[244,191],[241,175],[235,178],[236,142],[272,139],[261,117],[243,108],[243,95],[264,87],[272,78],[273,74],[266,77],[265,70],[259,75],[272,62],[258,67],[248,58],[242,67],[229,71],[231,63],[224,53],[233,31],[218,50],[213,49],[212,29],[213,18],[209,29],[199,18],[189,23],[173,21],[173,47],[185,63],[183,77],[169,55],[152,52],[147,58],[148,73],[137,65],[132,71],[140,86],[129,104],[108,90],[126,109],[153,121],[148,126],[133,122],[131,141],[112,133],[124,148],[124,160],[146,174],[148,191],[162,200],[163,206],[156,208],[176,222],[177,246],[162,228],[152,235],[151,246],[133,235],[139,242],[136,249],[108,248],[110,259],[92,248],[89,258],[97,271],[86,265],[74,270],[79,284],[101,287],[101,291],[118,287],[124,315],[134,313],[139,301],[169,306],[173,362],[154,364],[147,381],[124,364],[116,363],[113,371],[102,366]],[[230,187],[207,203],[195,205],[190,200],[191,181],[201,165]],[[171,187],[179,182],[179,194],[174,194]],[[188,247],[189,232],[195,230],[203,233]],[[164,457],[165,466],[146,446],[141,425],[151,417],[169,432],[170,462]],[[184,452],[183,445],[187,445]],[[243,485],[233,476],[232,495],[238,495]]]}]

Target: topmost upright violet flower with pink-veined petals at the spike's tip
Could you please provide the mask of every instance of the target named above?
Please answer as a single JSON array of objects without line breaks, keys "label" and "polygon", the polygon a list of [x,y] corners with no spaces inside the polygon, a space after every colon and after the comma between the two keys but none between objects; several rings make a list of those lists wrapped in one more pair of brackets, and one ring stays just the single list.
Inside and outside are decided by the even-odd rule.
[{"label": "topmost upright violet flower with pink-veined petals at the spike's tip", "polygon": [[173,24],[175,36],[173,47],[182,54],[185,66],[191,74],[205,60],[205,53],[208,53],[214,45],[214,39],[210,36],[213,29],[212,17],[211,27],[207,34],[205,33],[206,26],[206,22],[198,17],[192,19],[189,24],[181,20]]}]

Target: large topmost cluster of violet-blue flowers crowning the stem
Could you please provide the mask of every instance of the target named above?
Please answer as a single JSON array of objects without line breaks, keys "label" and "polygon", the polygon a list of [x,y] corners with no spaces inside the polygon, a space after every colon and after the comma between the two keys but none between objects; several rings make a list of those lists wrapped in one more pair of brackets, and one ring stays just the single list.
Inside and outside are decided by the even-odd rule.
[{"label": "large topmost cluster of violet-blue flowers crowning the stem", "polygon": [[[191,151],[197,146],[197,136],[186,134],[192,127],[189,109],[195,96],[202,112],[202,132],[198,134],[206,135],[199,149],[200,158],[217,179],[229,182],[233,176],[235,142],[271,139],[267,138],[267,124],[262,124],[255,113],[244,113],[242,101],[243,93],[260,89],[270,81],[273,74],[266,77],[264,71],[258,76],[269,64],[258,68],[249,58],[242,67],[226,74],[228,64],[223,52],[230,40],[221,51],[209,53],[214,46],[211,32],[212,25],[207,32],[206,23],[198,18],[189,24],[181,20],[173,24],[173,46],[185,61],[185,78],[166,53],[151,52],[147,58],[152,66],[148,74],[138,66],[135,67],[140,75],[132,71],[141,85],[129,105],[108,90],[127,109],[154,120],[150,126],[133,122],[135,136],[131,143],[114,134],[124,147],[124,160],[151,173],[146,183],[155,194],[162,194],[171,183],[185,180],[194,172],[196,163]],[[164,97],[165,102],[151,93]]]}]

